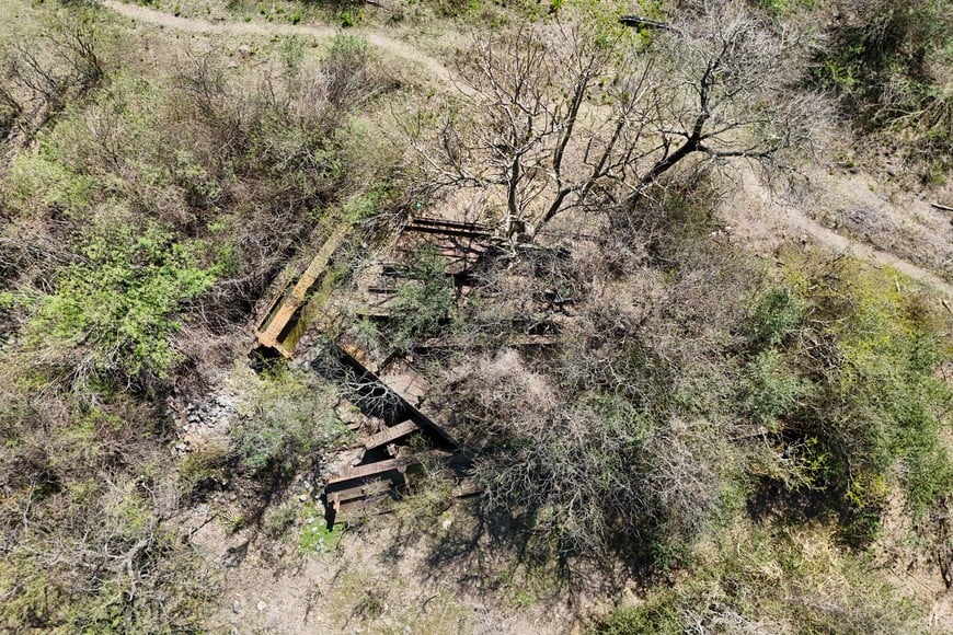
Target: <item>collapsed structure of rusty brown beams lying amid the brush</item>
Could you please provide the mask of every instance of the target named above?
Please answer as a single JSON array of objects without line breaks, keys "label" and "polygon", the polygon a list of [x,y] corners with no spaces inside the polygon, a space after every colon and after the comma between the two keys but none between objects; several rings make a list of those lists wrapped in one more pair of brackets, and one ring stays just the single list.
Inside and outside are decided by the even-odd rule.
[{"label": "collapsed structure of rusty brown beams lying amid the brush", "polygon": [[[299,343],[309,327],[322,327],[335,322],[335,309],[329,298],[315,298],[313,289],[329,275],[338,247],[351,234],[343,226],[331,233],[318,250],[305,272],[276,293],[276,299],[259,321],[254,332],[259,345],[287,359],[308,360],[298,354]],[[358,314],[386,319],[399,286],[401,262],[422,249],[432,249],[445,263],[446,275],[457,286],[466,286],[467,276],[494,243],[486,226],[437,218],[417,217],[398,232],[389,253],[367,268],[358,284],[361,298]],[[305,313],[310,312],[310,315]],[[317,326],[315,326],[317,325]],[[453,439],[423,406],[426,381],[403,359],[374,359],[368,350],[346,338],[332,342],[331,354],[347,377],[357,378],[358,393],[386,397],[391,405],[384,417],[364,413],[364,420],[352,426],[356,443],[345,449],[336,466],[328,475],[324,488],[328,521],[333,524],[338,515],[366,510],[387,499],[407,483],[409,472],[426,466],[460,466],[467,462]],[[347,407],[360,408],[361,396]],[[371,408],[372,409],[372,408]],[[416,449],[414,448],[423,448]],[[472,487],[458,483],[456,494],[472,494]]]}]

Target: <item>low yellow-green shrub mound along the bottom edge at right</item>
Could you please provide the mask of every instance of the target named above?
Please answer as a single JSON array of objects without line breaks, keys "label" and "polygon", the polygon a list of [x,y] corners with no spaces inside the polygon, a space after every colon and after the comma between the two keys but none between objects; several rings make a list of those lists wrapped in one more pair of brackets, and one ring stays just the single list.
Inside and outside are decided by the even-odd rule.
[{"label": "low yellow-green shrub mound along the bottom edge at right", "polygon": [[596,633],[919,632],[923,607],[813,529],[733,528],[680,581],[616,609]]}]

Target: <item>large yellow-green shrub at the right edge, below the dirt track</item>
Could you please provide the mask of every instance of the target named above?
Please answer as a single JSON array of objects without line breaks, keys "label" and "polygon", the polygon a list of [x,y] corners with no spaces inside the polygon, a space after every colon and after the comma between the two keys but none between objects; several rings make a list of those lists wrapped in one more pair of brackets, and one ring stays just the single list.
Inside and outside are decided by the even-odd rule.
[{"label": "large yellow-green shrub at the right edge, below the dirt track", "polygon": [[[934,374],[943,316],[889,269],[847,258],[794,268],[810,270],[796,290],[769,293],[754,311],[756,340],[778,347],[749,366],[748,414],[777,422],[779,455],[808,467],[846,535],[866,542],[893,484],[916,517],[953,487],[940,438],[953,391]],[[799,337],[784,337],[797,323]]]}]

